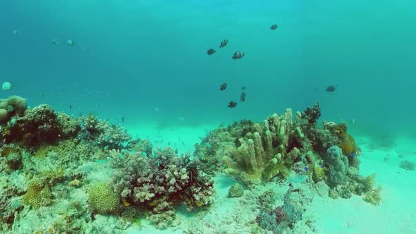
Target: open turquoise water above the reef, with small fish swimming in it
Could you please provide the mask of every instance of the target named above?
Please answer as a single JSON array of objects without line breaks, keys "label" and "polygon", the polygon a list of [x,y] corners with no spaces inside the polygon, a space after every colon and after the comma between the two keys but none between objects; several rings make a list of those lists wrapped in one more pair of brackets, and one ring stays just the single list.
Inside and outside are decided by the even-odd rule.
[{"label": "open turquoise water above the reef, with small fish swimming in it", "polygon": [[[352,135],[412,142],[415,8],[408,0],[1,0],[0,82],[13,85],[1,97],[94,113],[139,133],[147,124],[262,121],[319,102],[320,121],[345,121]],[[235,51],[245,56],[234,61]]]}]

